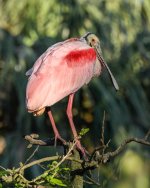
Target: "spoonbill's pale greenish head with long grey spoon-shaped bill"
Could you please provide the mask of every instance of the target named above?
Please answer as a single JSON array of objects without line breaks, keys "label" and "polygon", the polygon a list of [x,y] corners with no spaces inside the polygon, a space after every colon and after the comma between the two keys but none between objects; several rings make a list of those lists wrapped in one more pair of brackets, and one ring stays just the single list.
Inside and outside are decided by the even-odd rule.
[{"label": "spoonbill's pale greenish head with long grey spoon-shaped bill", "polygon": [[119,86],[117,84],[116,79],[114,78],[112,72],[110,71],[107,63],[103,59],[100,40],[98,39],[98,37],[95,34],[88,32],[81,39],[84,39],[89,46],[95,49],[99,62],[102,64],[102,66],[106,67],[115,89],[119,90]]}]

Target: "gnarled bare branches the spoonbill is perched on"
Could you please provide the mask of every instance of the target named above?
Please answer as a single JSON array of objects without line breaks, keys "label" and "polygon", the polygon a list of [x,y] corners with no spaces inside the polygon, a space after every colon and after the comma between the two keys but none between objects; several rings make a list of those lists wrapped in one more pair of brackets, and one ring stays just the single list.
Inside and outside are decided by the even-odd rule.
[{"label": "gnarled bare branches the spoonbill is perched on", "polygon": [[[32,187],[32,185],[44,183],[43,174],[39,175],[38,177],[34,178],[33,180],[27,180],[24,177],[24,171],[26,169],[28,169],[34,165],[40,165],[41,163],[44,163],[44,162],[59,161],[56,166],[49,168],[49,169],[46,168],[44,171],[44,173],[46,172],[47,174],[51,173],[51,178],[54,178],[58,173],[57,169],[61,168],[60,165],[63,162],[68,160],[68,161],[71,161],[71,164],[73,164],[74,162],[76,164],[79,164],[79,165],[77,165],[76,168],[73,167],[71,169],[70,175],[72,177],[77,177],[77,178],[79,177],[82,180],[81,183],[83,184],[83,174],[85,172],[87,172],[88,170],[93,170],[93,169],[98,168],[100,163],[101,164],[107,163],[108,161],[110,161],[111,158],[114,158],[117,155],[119,155],[126,148],[127,144],[129,144],[131,142],[136,142],[139,144],[143,144],[145,146],[150,146],[150,141],[148,141],[148,139],[150,137],[150,130],[149,130],[144,138],[142,138],[142,139],[140,139],[140,138],[125,139],[114,151],[106,152],[106,148],[108,148],[110,140],[105,144],[105,142],[104,142],[104,119],[105,119],[105,114],[104,114],[104,118],[103,118],[103,127],[102,127],[102,132],[101,132],[101,140],[100,140],[101,145],[93,151],[93,153],[88,161],[85,161],[83,159],[81,160],[80,157],[79,158],[75,157],[75,153],[79,154],[79,152],[75,148],[76,142],[73,141],[73,142],[67,143],[69,151],[67,152],[67,154],[65,156],[45,157],[45,158],[42,158],[39,160],[29,162],[29,160],[37,152],[39,146],[46,146],[46,145],[53,146],[54,145],[53,139],[39,140],[38,139],[39,136],[37,134],[31,134],[31,135],[25,136],[25,139],[27,141],[29,141],[29,143],[30,143],[29,147],[31,147],[32,145],[38,145],[38,147],[34,150],[34,152],[31,154],[31,156],[26,160],[25,164],[21,164],[19,168],[11,170],[11,169],[4,169],[3,167],[0,166],[0,168],[2,168],[3,170],[5,170],[7,172],[7,175],[2,176],[1,179],[3,181],[5,181],[6,183],[12,183],[13,181],[21,181],[21,182],[24,182],[25,185],[28,185],[28,187]],[[60,145],[64,146],[62,143]],[[65,145],[65,146],[67,146],[67,145]],[[16,180],[17,178],[20,178],[20,180]],[[76,181],[74,181],[74,182],[76,182]]]}]

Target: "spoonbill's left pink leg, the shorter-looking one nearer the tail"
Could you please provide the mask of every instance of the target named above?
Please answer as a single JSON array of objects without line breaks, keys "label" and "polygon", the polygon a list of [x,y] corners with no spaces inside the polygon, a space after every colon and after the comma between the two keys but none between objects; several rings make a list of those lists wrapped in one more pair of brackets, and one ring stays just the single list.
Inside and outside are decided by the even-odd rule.
[{"label": "spoonbill's left pink leg, the shorter-looking one nearer the tail", "polygon": [[54,134],[55,134],[55,146],[56,146],[57,139],[65,144],[66,143],[65,140],[61,138],[61,136],[60,136],[60,134],[58,132],[58,129],[57,129],[56,125],[55,125],[55,121],[54,121],[54,118],[53,118],[51,110],[48,109],[47,113],[48,113],[50,122],[52,124],[53,131],[54,131]]}]

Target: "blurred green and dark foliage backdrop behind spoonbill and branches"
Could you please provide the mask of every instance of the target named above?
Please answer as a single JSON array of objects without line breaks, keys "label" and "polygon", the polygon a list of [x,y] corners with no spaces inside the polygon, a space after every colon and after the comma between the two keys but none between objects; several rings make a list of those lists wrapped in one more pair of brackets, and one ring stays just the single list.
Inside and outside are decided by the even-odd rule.
[{"label": "blurred green and dark foliage backdrop behind spoonbill and branches", "polygon": [[[23,136],[53,137],[47,116],[33,117],[25,107],[25,72],[52,44],[86,32],[101,40],[103,56],[120,91],[107,71],[83,87],[75,97],[77,130],[90,131],[82,139],[89,152],[99,145],[103,113],[110,150],[128,137],[142,138],[150,127],[150,1],[149,0],[0,0],[0,165],[18,166],[32,153]],[[65,110],[67,99],[52,107],[63,138],[71,139]],[[33,148],[35,149],[35,148]],[[38,159],[58,148],[40,148]],[[34,167],[30,174],[37,175]],[[150,148],[128,145],[125,152],[94,174],[102,187],[149,188]],[[95,187],[88,186],[85,187]]]}]

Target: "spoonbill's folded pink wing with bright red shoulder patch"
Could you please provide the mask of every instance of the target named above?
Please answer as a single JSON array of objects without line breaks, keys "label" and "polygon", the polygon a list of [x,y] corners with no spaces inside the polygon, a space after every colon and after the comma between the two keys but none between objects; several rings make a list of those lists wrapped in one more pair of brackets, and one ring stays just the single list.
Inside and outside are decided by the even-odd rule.
[{"label": "spoonbill's folded pink wing with bright red shoulder patch", "polygon": [[51,106],[76,92],[94,75],[96,52],[79,39],[49,48],[29,73],[26,102],[29,111]]}]

